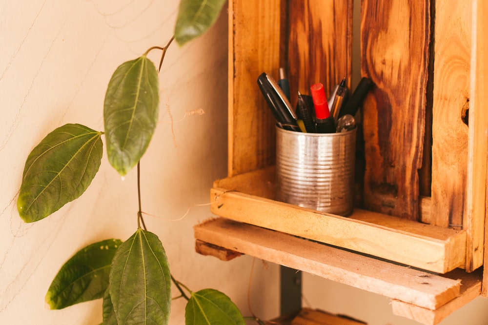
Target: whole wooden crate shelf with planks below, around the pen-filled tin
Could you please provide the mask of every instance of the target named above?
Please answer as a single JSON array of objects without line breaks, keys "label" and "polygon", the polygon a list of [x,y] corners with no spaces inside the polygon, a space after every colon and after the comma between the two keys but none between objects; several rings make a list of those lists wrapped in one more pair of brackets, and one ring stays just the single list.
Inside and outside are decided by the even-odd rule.
[{"label": "whole wooden crate shelf with planks below, around the pen-filled tin", "polygon": [[[364,288],[436,324],[488,295],[488,2],[364,0],[359,12],[360,74],[374,83],[358,132],[364,209],[345,218],[274,199],[276,121],[256,85],[285,67],[292,94],[344,77],[351,89],[353,1],[230,0],[228,178],[211,189],[211,212],[225,219],[195,228],[197,250]],[[375,267],[398,279],[368,273]],[[417,274],[439,283],[425,291]]]}]

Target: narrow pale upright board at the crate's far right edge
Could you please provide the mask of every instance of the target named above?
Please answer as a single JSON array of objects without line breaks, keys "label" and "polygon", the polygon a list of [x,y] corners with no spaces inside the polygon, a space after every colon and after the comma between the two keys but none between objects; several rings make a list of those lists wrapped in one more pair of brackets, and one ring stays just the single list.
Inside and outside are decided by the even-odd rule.
[{"label": "narrow pale upright board at the crate's far right edge", "polygon": [[[472,44],[468,130],[468,197],[463,228],[468,233],[466,270],[483,264],[487,211],[488,156],[488,2],[472,5]],[[488,267],[485,267],[487,272]],[[485,273],[484,281],[487,274]],[[485,291],[486,292],[486,291]]]}]

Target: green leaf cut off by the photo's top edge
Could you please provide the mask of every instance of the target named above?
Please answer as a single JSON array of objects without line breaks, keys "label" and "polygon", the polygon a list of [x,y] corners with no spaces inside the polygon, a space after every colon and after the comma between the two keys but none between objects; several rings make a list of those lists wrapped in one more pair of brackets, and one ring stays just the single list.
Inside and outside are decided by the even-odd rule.
[{"label": "green leaf cut off by the photo's top edge", "polygon": [[191,41],[213,26],[226,0],[181,0],[175,26],[178,44]]}]

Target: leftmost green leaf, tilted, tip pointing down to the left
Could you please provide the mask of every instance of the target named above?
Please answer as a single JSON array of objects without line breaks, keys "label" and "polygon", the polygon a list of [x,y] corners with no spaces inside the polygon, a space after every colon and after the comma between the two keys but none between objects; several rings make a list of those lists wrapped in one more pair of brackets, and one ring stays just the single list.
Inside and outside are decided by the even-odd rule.
[{"label": "leftmost green leaf, tilted, tip pointing down to the left", "polygon": [[83,194],[102,161],[102,132],[65,124],[27,157],[17,209],[26,223],[41,220]]}]

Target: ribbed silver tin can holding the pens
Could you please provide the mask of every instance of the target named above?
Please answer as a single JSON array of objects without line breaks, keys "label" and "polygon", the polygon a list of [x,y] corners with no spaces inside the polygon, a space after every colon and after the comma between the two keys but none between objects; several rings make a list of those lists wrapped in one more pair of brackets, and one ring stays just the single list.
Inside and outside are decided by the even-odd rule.
[{"label": "ribbed silver tin can holding the pens", "polygon": [[301,133],[276,127],[276,199],[348,216],[354,197],[356,128]]}]

